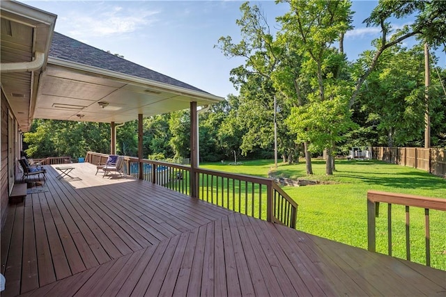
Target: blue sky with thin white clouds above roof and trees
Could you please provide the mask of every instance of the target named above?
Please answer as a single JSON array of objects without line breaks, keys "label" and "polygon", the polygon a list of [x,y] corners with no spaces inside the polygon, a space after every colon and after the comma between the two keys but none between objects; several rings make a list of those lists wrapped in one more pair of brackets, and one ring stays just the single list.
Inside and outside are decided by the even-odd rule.
[{"label": "blue sky with thin white clouds above roof and trees", "polygon": [[[56,31],[88,45],[121,54],[125,59],[169,75],[209,93],[226,97],[238,94],[229,81],[240,58],[226,58],[214,48],[229,35],[240,40],[236,19],[243,1],[21,1],[58,15]],[[251,1],[261,6],[274,27],[275,17],[287,11],[286,4]],[[353,1],[352,31],[344,40],[350,60],[357,58],[380,35],[362,21],[377,1]],[[411,19],[394,20],[394,25]],[[446,57],[440,56],[441,67]]]}]

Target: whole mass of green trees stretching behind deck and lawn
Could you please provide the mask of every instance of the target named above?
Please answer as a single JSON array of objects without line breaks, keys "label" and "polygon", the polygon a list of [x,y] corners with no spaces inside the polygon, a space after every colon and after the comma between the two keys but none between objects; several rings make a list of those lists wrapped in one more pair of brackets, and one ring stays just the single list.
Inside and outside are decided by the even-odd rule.
[{"label": "whole mass of green trees stretching behind deck and lawn", "polygon": [[[429,94],[431,145],[446,147],[446,70],[431,52],[431,87],[424,86],[424,44],[446,44],[446,6],[440,1],[379,1],[364,20],[378,26],[374,49],[355,61],[344,53],[344,34],[352,29],[350,1],[279,0],[289,11],[271,26],[260,6],[240,6],[240,42],[217,40],[227,57],[243,57],[230,80],[240,91],[199,114],[201,161],[271,158],[274,120],[284,161],[327,152],[333,156],[358,145],[420,146],[424,139],[425,95]],[[390,18],[415,16],[415,22],[392,29]],[[403,41],[415,38],[408,47]],[[279,106],[274,110],[274,101]],[[144,156],[156,159],[190,155],[190,114],[178,111],[144,119]],[[137,122],[117,130],[118,153],[137,155]],[[25,134],[26,152],[34,157],[84,156],[109,152],[109,125],[35,120]]]}]

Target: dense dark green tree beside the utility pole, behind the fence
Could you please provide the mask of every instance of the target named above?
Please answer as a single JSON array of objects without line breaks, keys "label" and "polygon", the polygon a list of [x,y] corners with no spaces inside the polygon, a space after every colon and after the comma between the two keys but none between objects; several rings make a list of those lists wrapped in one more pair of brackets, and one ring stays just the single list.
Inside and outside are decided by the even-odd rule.
[{"label": "dense dark green tree beside the utility pole, behind the fence", "polygon": [[[357,64],[370,57],[370,52],[364,53]],[[431,125],[438,127],[444,114],[437,111],[445,95],[438,88],[438,77],[433,76],[432,80],[437,87],[430,90]],[[367,88],[360,94],[357,108],[367,113],[363,125],[376,131],[377,141],[373,145],[421,146],[425,110],[424,45],[411,49],[395,46],[387,50],[366,82]]]}]

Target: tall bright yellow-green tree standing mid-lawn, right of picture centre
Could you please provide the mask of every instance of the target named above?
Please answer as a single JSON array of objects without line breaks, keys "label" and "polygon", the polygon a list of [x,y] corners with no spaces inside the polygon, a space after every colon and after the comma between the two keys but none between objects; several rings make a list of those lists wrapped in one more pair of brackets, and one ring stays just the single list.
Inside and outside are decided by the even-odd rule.
[{"label": "tall bright yellow-green tree standing mid-lawn, right of picture centre", "polygon": [[[346,56],[334,49],[351,28],[350,1],[280,1],[290,11],[278,21],[282,38],[303,59],[300,75],[310,86],[307,104],[295,106],[288,120],[301,141],[311,143],[310,150],[326,150],[325,173],[332,175],[332,149],[341,133],[353,125],[348,109],[351,87],[346,72]],[[334,153],[334,152],[333,152]]]}]

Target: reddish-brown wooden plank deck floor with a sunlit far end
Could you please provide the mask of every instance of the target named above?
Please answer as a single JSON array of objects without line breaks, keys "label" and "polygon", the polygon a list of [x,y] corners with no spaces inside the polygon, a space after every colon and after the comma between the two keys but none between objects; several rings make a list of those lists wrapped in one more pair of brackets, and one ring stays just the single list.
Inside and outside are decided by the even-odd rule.
[{"label": "reddish-brown wooden plank deck floor with a sunlit far end", "polygon": [[445,271],[72,165],[9,207],[1,296],[446,296]]}]

